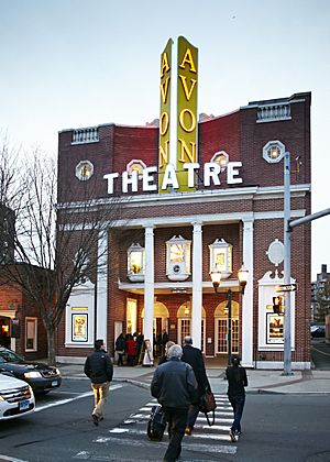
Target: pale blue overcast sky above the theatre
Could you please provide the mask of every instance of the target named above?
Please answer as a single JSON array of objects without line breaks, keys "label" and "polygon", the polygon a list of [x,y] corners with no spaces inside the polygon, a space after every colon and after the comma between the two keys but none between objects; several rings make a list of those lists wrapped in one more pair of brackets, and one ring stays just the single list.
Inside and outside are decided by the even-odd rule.
[{"label": "pale blue overcast sky above the theatre", "polygon": [[[330,207],[330,1],[0,0],[0,19],[12,146],[51,154],[63,129],[158,118],[160,55],[184,35],[199,48],[199,112],[311,91],[312,211]],[[312,223],[312,278],[330,272],[329,238],[330,216]]]}]

